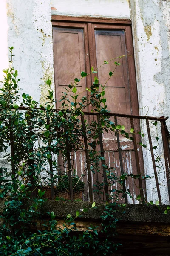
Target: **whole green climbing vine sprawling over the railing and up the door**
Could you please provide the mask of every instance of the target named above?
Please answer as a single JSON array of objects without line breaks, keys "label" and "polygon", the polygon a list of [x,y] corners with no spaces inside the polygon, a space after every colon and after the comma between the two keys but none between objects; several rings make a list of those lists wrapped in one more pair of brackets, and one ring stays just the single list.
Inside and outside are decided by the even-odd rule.
[{"label": "whole green climbing vine sprawling over the railing and up the door", "polygon": [[[114,168],[108,166],[105,157],[99,154],[100,136],[104,131],[134,140],[133,128],[127,132],[124,125],[116,125],[107,115],[109,111],[105,98],[106,84],[125,56],[104,61],[98,68],[116,60],[107,81],[101,85],[95,76],[91,87],[86,89],[88,95],[81,98],[77,93],[77,84],[91,73],[97,73],[98,69],[91,67],[90,74],[82,71],[81,77],[75,78],[64,92],[60,100],[61,108],[55,110],[56,99],[50,79],[46,81],[48,102],[45,106],[39,106],[26,93],[20,95],[20,79],[12,65],[13,47],[9,49],[10,67],[3,70],[5,76],[0,89],[0,154],[4,157],[0,166],[0,198],[4,199],[4,207],[0,212],[0,255],[111,255],[120,246],[113,239],[118,221],[114,217],[114,207],[120,196],[132,197],[129,189],[123,189],[125,180],[152,178],[127,173],[118,177]],[[80,119],[82,116],[84,118],[84,111],[89,105],[93,107],[93,112],[98,113],[98,119],[91,122],[85,119],[83,127]],[[106,178],[102,182],[98,181],[93,188],[100,201],[105,204],[105,211],[101,216],[101,232],[105,233],[105,239],[99,237],[99,227],[89,227],[78,234],[73,232],[77,230],[75,218],[80,218],[86,211],[93,211],[96,208],[95,202],[90,209],[77,209],[75,218],[68,214],[63,228],[57,226],[54,212],[46,212],[48,221],[43,221],[43,207],[47,200],[43,186],[54,184],[55,199],[61,200],[59,191],[69,189],[68,173],[63,173],[58,166],[57,156],[60,154],[64,164],[68,164],[68,152],[75,154],[79,150],[85,150],[82,136],[88,140],[91,173],[101,174],[104,168],[106,174]],[[146,148],[144,144],[139,144]],[[160,157],[156,160],[161,161]],[[74,157],[71,161],[74,161]],[[74,164],[71,163],[71,166],[74,173]],[[84,176],[72,176],[74,189],[83,191]],[[119,189],[113,188],[116,183],[119,184]],[[105,186],[109,187],[108,194],[104,192]],[[137,199],[141,201],[140,196]],[[40,222],[41,227],[38,226]]]}]

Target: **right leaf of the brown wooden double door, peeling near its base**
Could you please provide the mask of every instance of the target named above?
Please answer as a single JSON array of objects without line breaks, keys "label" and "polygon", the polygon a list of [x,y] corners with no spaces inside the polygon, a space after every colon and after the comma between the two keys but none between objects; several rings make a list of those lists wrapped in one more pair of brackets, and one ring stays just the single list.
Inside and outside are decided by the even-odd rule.
[{"label": "right leaf of the brown wooden double door, peeling near its base", "polygon": [[[139,115],[138,108],[138,96],[134,69],[133,59],[133,43],[130,31],[130,26],[120,26],[111,24],[88,24],[89,45],[91,45],[91,65],[95,68],[104,63],[104,60],[108,61],[112,58],[116,58],[122,55],[119,63],[120,66],[116,67],[114,75],[108,80],[109,72],[113,72],[115,69],[115,61],[119,58],[110,61],[109,64],[105,64],[98,70],[99,83],[105,85],[105,98],[107,99],[107,109],[111,113],[120,113],[126,115]],[[95,51],[95,53],[94,53]],[[108,82],[105,84],[105,82]],[[114,123],[125,126],[125,131],[130,132],[131,124],[129,118],[118,117],[111,118]],[[116,121],[116,122],[115,122]],[[134,121],[136,127],[136,133],[140,131],[140,123],[138,120]],[[119,135],[120,148],[117,143],[117,137],[110,132],[103,133],[103,145],[105,150],[105,160],[108,166],[115,170],[118,177],[122,172],[128,174],[137,174],[136,159],[134,154],[133,141],[127,140],[123,135]],[[138,137],[140,141],[140,138]],[[139,150],[139,147],[138,147]],[[121,154],[121,155],[120,155]],[[120,164],[120,158],[122,158],[122,168]],[[142,157],[142,149],[139,150],[139,159],[142,175],[144,175],[144,165]],[[100,179],[102,179],[100,177]],[[144,184],[143,184],[144,185]],[[115,184],[111,189],[116,188],[119,190],[119,184]],[[133,203],[135,198],[140,194],[139,184],[135,180],[128,179],[126,181],[126,188],[130,189]],[[123,202],[120,198],[120,202]]]}]

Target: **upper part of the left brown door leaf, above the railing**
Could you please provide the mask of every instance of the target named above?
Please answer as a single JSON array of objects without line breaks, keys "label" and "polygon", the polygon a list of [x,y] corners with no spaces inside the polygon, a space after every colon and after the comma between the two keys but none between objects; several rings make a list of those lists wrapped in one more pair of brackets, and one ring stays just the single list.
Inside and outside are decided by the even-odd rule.
[{"label": "upper part of the left brown door leaf, above the railing", "polygon": [[[54,49],[54,77],[56,107],[60,108],[60,99],[66,92],[68,84],[73,83],[75,78],[81,77],[81,72],[86,71],[85,24],[79,28],[53,27],[53,49]],[[86,96],[86,79],[82,79],[77,85],[79,97]]]}]

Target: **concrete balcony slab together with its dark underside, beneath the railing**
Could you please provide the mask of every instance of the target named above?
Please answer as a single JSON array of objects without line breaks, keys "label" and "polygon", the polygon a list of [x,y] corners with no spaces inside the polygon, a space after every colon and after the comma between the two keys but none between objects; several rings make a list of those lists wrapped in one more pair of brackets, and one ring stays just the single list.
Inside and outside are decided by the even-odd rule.
[{"label": "concrete balcony slab together with its dark underside, beneath the railing", "polygon": [[[71,202],[48,200],[42,209],[43,212],[54,212],[57,219],[57,227],[63,228],[63,218],[68,214],[76,216],[76,211],[82,208],[91,208],[90,202]],[[0,211],[4,207],[4,200],[0,200]],[[96,203],[97,209],[89,209],[83,212],[81,218],[74,220],[78,232],[87,230],[91,225],[101,230],[105,204]],[[127,204],[115,206],[115,218],[117,222],[117,236],[114,240],[123,246],[115,256],[168,256],[170,255],[170,212],[164,214],[167,205]],[[123,213],[125,212],[125,213]],[[44,214],[42,221],[37,221],[37,227],[49,220],[49,214]],[[35,227],[31,227],[32,230]],[[100,232],[99,232],[100,233]],[[102,236],[102,233],[100,233]]]}]

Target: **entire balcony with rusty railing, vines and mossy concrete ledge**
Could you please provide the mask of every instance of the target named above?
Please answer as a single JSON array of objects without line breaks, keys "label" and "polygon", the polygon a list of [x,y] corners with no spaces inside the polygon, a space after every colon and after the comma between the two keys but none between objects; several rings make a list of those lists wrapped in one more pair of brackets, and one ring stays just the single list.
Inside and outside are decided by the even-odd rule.
[{"label": "entire balcony with rusty railing, vines and mossy concrete ledge", "polygon": [[[170,209],[165,205],[170,198],[167,118],[13,107],[0,109],[0,209],[4,216],[4,204],[16,207],[11,195],[17,205],[12,208],[12,220],[18,208],[22,215],[23,207],[28,207],[25,212],[33,209],[31,202],[32,207],[43,202],[42,218],[36,219],[36,225],[30,221],[29,232],[48,232],[49,213],[53,213],[60,230],[65,228],[63,217],[71,216],[78,234],[95,227],[102,241],[102,215],[112,202],[118,233],[113,242],[123,245],[115,256],[136,255],[136,250],[141,256],[168,255],[170,221],[164,215]],[[16,223],[18,230],[20,216]]]}]

